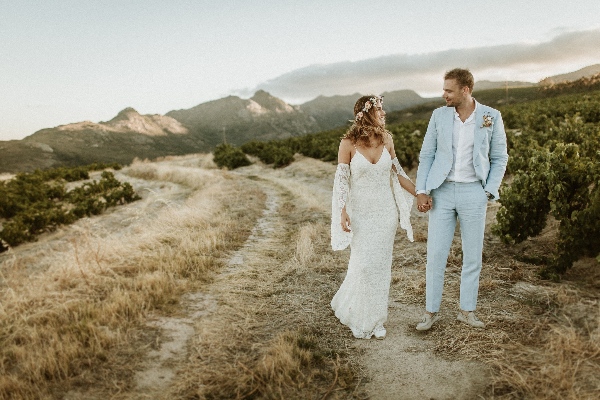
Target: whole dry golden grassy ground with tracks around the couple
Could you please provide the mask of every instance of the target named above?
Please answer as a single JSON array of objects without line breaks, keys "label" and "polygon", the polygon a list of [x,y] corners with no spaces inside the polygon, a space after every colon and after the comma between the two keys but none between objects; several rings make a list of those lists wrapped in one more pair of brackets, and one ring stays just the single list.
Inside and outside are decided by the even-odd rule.
[{"label": "whole dry golden grassy ground with tracks around the couple", "polygon": [[[490,233],[497,204],[480,282],[485,329],[454,321],[457,230],[442,320],[414,330],[427,215],[413,209],[415,242],[399,229],[394,244],[388,338],[353,338],[329,308],[349,257],[329,247],[334,172],[300,155],[277,170],[257,162],[226,172],[210,156],[124,169],[118,178],[142,200],[2,254],[2,396],[392,399],[425,383],[439,398],[597,398],[596,261],[543,281],[535,255],[551,252],[556,222],[502,245]],[[382,364],[390,349],[397,368]],[[436,372],[418,369],[428,366]]]}]

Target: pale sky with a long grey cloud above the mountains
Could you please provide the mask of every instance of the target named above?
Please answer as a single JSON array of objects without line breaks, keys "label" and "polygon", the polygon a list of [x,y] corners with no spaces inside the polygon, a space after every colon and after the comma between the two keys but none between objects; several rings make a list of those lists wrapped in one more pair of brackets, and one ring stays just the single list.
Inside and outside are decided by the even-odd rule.
[{"label": "pale sky with a long grey cloud above the mountains", "polygon": [[476,80],[536,82],[600,63],[599,15],[598,0],[0,0],[0,140],[256,88],[292,104],[439,95],[457,62]]}]

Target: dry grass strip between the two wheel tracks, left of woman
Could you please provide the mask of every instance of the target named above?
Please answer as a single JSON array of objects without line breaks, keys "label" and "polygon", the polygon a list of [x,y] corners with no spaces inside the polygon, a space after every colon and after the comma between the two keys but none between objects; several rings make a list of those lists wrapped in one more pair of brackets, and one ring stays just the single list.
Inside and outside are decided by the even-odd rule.
[{"label": "dry grass strip between the two wheel tracks, left of woman", "polygon": [[259,182],[280,193],[271,233],[242,250],[244,264],[215,282],[210,293],[220,308],[197,324],[169,398],[356,395],[362,372],[352,361],[354,339],[329,306],[340,284],[332,276],[346,269],[348,254],[332,255],[328,214],[304,201],[314,192],[296,196],[298,188],[287,191],[278,175],[268,179]]}]

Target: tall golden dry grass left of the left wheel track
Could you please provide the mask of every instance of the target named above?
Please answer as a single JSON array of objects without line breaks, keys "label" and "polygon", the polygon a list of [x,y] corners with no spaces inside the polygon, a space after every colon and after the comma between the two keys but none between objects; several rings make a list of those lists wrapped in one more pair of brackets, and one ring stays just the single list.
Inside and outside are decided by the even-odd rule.
[{"label": "tall golden dry grass left of the left wheel track", "polygon": [[103,383],[109,393],[131,384],[152,335],[142,329],[145,318],[172,311],[183,291],[212,279],[220,253],[247,237],[262,208],[253,185],[244,182],[251,196],[241,197],[238,180],[218,170],[186,175],[185,168],[131,168],[200,189],[184,206],[140,220],[127,237],[80,232],[34,272],[18,251],[4,256],[0,397],[55,398],[99,377],[110,382]]}]

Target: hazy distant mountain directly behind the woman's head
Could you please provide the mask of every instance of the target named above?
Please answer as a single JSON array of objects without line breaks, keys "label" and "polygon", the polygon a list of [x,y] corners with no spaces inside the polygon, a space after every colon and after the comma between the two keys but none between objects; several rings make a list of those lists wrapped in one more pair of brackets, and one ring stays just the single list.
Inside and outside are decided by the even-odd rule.
[{"label": "hazy distant mountain directly behind the woman's head", "polygon": [[[406,109],[433,100],[422,98],[415,91],[410,90],[383,92],[382,95],[386,112]],[[344,125],[353,118],[354,104],[361,96],[359,93],[346,96],[319,96],[301,104],[300,109],[313,117],[322,130],[328,130]]]}]

